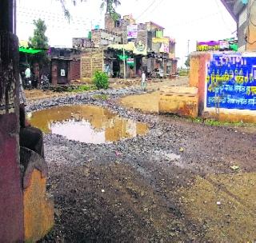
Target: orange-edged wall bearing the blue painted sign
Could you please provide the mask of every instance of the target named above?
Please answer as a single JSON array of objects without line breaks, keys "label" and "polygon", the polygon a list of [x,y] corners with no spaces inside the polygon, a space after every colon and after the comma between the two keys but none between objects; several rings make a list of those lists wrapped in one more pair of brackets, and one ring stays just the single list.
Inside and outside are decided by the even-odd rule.
[{"label": "orange-edged wall bearing the blue painted sign", "polygon": [[[215,54],[221,54],[223,53],[215,53]],[[198,87],[198,101],[199,101],[199,115],[206,116],[207,118],[216,118],[221,121],[246,121],[246,122],[255,122],[256,121],[256,92],[255,92],[255,80],[248,78],[253,78],[254,75],[252,74],[246,74],[244,72],[243,76],[241,74],[235,74],[235,77],[230,78],[230,75],[227,75],[227,80],[223,82],[223,78],[225,78],[225,74],[216,74],[214,77],[209,76],[210,70],[209,70],[209,64],[210,61],[213,60],[213,53],[205,52],[205,53],[193,53],[191,55],[191,61],[190,61],[190,86]],[[225,55],[225,54],[224,54]],[[231,61],[228,62],[238,62],[238,60],[235,57],[240,57],[241,55],[238,55],[236,53],[228,53],[226,54],[224,60],[228,60],[230,58]],[[249,57],[249,58],[256,58],[256,54],[242,54],[242,57]],[[234,61],[232,61],[234,60]],[[237,61],[236,61],[237,60]],[[241,59],[242,60],[242,59]],[[251,59],[252,61],[248,61],[248,63],[244,61],[241,62],[243,68],[246,68],[248,65],[253,65],[254,59]],[[249,60],[249,59],[248,59]],[[227,61],[224,61],[227,62]],[[225,65],[225,63],[223,64]],[[239,70],[242,69],[242,66]],[[225,68],[225,66],[224,66]],[[231,68],[230,68],[231,69]],[[230,72],[230,70],[229,70]],[[211,74],[210,74],[211,75]],[[218,75],[218,76],[217,76]],[[252,75],[252,76],[251,76]],[[209,82],[210,80],[214,78],[214,89],[215,90],[224,90],[222,92],[221,96],[218,96],[218,100],[220,103],[216,105],[215,107],[210,106],[209,99],[207,92],[210,91]],[[242,78],[242,79],[241,79]],[[236,80],[238,82],[237,84],[233,84],[232,86],[229,84],[230,80]],[[217,81],[217,82],[215,82]],[[233,87],[234,86],[234,87]],[[229,88],[230,87],[230,88]],[[232,94],[227,93],[227,89],[232,89],[233,91],[236,90],[234,95],[234,98],[232,98]],[[226,91],[225,91],[226,90]],[[240,92],[241,90],[246,90],[243,94]],[[250,98],[248,98],[248,92],[250,90]],[[218,92],[218,91],[216,91]],[[240,92],[240,93],[239,93]],[[209,93],[210,94],[210,93]],[[241,96],[241,98],[240,98]],[[243,98],[242,98],[243,97]],[[216,97],[215,97],[216,98]],[[225,99],[225,100],[224,100]],[[241,100],[241,102],[240,102]],[[255,101],[255,105],[250,105],[252,108],[246,108],[247,106],[244,106],[242,108],[243,102],[247,102],[247,104],[252,104],[252,102]],[[225,103],[224,103],[225,102]],[[237,104],[237,105],[235,105]],[[241,108],[237,108],[237,107]],[[248,106],[249,107],[249,106]],[[254,107],[254,108],[253,108]]]}]

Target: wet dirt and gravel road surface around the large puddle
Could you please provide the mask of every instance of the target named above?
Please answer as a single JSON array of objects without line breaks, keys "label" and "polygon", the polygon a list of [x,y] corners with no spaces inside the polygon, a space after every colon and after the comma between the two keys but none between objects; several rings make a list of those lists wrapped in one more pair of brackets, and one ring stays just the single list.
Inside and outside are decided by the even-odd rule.
[{"label": "wet dirt and gravel road surface around the large puddle", "polygon": [[[46,134],[55,226],[42,242],[253,242],[256,134],[141,114],[106,91],[35,102],[104,106],[150,126],[146,136],[86,144]],[[237,165],[238,169],[231,169]]]}]

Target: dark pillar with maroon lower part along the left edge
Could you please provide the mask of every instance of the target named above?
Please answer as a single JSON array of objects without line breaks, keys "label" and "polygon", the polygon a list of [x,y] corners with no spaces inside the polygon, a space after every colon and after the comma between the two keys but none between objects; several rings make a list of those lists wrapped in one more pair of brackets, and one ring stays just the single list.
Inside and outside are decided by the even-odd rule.
[{"label": "dark pillar with maroon lower part along the left edge", "polygon": [[0,32],[0,241],[22,242],[19,162],[18,38]]}]

